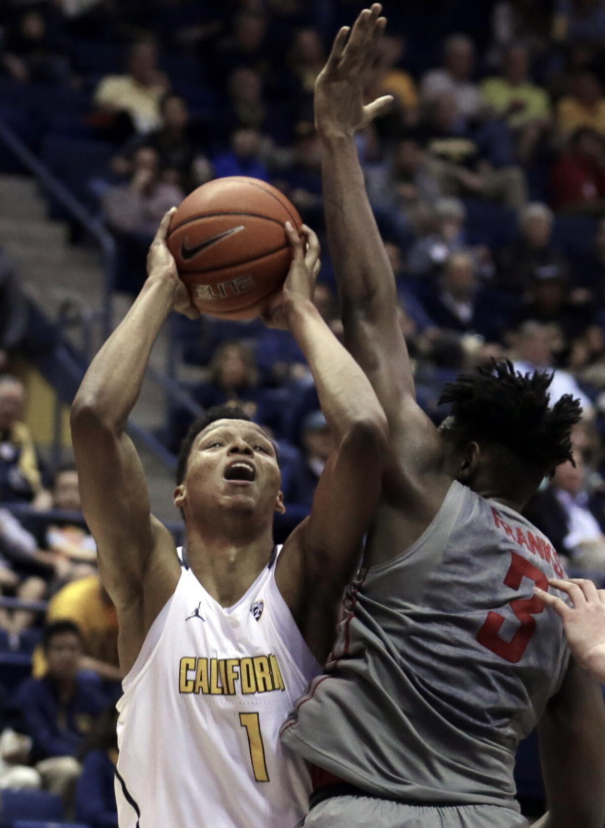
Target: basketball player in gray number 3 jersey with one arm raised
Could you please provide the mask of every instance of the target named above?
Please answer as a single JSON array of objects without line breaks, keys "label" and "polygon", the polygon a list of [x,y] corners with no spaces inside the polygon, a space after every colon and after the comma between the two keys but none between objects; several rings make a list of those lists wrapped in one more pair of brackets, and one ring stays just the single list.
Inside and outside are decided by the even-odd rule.
[{"label": "basketball player in gray number 3 jersey with one arm raised", "polygon": [[391,103],[363,99],[381,11],[340,31],[315,89],[346,344],[387,414],[391,451],[338,642],[282,729],[315,765],[305,828],[526,826],[513,766],[536,724],[550,808],[540,828],[602,828],[603,698],[533,594],[564,570],[521,514],[571,456],[579,402],[550,408],[549,375],[502,363],[445,388],[439,430],[416,404],[354,137]]}]

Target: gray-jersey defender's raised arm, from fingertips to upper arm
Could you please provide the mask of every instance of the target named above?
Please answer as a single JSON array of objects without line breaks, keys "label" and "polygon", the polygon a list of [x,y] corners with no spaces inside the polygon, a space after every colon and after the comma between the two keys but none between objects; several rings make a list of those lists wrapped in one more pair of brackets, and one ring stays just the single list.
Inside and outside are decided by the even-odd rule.
[{"label": "gray-jersey defender's raised arm, from fingertips to upper arm", "polygon": [[414,394],[406,342],[398,319],[395,277],[367,198],[355,133],[391,104],[364,106],[363,94],[386,25],[382,7],[365,9],[339,31],[315,84],[315,126],[324,147],[326,224],[339,286],[345,342],[377,391],[385,412],[399,416]]}]

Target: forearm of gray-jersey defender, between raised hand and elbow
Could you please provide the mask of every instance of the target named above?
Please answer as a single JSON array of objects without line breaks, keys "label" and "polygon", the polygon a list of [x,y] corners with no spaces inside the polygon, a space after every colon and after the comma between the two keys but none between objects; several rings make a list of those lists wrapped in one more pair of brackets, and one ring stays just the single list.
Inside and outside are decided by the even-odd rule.
[{"label": "forearm of gray-jersey defender, between raised hand and elbow", "polygon": [[367,198],[355,138],[323,137],[325,220],[343,315],[396,314],[391,265]]}]

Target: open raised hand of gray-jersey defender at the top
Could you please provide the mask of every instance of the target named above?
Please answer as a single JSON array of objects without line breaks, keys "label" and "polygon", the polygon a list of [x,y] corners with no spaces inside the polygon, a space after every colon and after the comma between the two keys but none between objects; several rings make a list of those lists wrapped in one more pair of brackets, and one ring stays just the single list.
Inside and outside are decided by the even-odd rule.
[{"label": "open raised hand of gray-jersey defender at the top", "polygon": [[391,106],[392,95],[363,103],[387,25],[381,13],[381,4],[374,3],[361,12],[353,30],[343,26],[336,36],[328,62],[315,81],[315,128],[320,135],[353,135]]}]

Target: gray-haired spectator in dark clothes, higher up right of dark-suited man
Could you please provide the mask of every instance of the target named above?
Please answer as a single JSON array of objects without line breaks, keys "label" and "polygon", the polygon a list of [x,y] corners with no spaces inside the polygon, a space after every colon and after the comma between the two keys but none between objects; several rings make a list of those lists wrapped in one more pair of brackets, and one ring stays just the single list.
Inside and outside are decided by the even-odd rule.
[{"label": "gray-haired spectator in dark clothes, higher up right of dark-suited man", "polygon": [[520,295],[536,278],[566,277],[568,262],[552,243],[554,215],[539,201],[519,214],[519,236],[502,250],[497,281],[506,291]]}]

